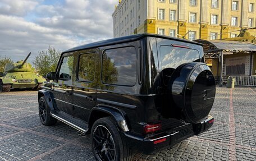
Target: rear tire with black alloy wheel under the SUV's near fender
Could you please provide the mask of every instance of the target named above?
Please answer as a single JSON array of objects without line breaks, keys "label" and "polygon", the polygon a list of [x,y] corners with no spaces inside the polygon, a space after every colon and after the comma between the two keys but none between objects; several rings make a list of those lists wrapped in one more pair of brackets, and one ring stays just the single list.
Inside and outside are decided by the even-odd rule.
[{"label": "rear tire with black alloy wheel under the SUV's near fender", "polygon": [[93,124],[91,132],[92,151],[96,160],[129,161],[131,149],[122,139],[115,120],[100,118]]}]

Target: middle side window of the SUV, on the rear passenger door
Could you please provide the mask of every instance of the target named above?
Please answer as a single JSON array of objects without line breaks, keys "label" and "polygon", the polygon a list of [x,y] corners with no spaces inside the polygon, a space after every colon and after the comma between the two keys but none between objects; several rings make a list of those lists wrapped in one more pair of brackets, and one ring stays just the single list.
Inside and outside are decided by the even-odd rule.
[{"label": "middle side window of the SUV, on the rear passenger door", "polygon": [[95,77],[95,53],[86,53],[79,56],[78,80],[94,81]]}]

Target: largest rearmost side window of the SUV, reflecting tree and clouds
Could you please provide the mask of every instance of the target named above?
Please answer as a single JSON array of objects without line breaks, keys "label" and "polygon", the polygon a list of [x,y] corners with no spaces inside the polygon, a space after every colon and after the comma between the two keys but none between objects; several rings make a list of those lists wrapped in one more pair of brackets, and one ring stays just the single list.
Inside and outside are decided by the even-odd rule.
[{"label": "largest rearmost side window of the SUV, reflecting tree and clouds", "polygon": [[104,84],[133,86],[136,83],[136,49],[125,47],[105,50],[102,57]]}]

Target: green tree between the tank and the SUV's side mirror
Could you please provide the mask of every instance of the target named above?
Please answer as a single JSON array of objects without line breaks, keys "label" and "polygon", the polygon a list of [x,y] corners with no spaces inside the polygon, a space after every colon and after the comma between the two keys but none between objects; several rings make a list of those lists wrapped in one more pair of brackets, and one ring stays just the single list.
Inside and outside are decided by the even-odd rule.
[{"label": "green tree between the tank and the SUV's side mirror", "polygon": [[38,53],[39,55],[35,57],[33,65],[39,75],[45,76],[48,72],[55,71],[61,51],[49,47],[47,51],[42,50]]}]

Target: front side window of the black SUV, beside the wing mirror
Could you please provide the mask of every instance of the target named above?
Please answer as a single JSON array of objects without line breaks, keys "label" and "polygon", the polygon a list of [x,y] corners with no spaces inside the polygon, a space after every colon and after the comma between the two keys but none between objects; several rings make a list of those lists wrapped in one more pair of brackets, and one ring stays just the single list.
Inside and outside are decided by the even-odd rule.
[{"label": "front side window of the black SUV, beside the wing mirror", "polygon": [[59,79],[71,80],[72,68],[73,68],[73,57],[67,56],[62,59],[61,68],[59,72]]}]

